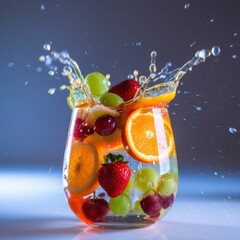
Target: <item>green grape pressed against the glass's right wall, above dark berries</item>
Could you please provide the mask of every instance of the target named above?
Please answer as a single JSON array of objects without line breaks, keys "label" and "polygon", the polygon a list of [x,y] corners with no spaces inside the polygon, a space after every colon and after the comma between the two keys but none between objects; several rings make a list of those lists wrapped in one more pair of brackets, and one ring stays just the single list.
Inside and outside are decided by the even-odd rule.
[{"label": "green grape pressed against the glass's right wall, above dark berries", "polygon": [[177,191],[177,180],[171,173],[165,173],[161,176],[157,192],[161,195],[169,196]]}]

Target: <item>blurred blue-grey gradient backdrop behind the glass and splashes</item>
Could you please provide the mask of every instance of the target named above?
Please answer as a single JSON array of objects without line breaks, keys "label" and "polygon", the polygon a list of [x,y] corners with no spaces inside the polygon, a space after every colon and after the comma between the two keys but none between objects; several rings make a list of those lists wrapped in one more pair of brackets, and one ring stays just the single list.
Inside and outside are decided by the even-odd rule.
[{"label": "blurred blue-grey gradient backdrop behind the glass and splashes", "polygon": [[[187,2],[191,6],[185,10]],[[38,57],[44,43],[67,49],[84,75],[98,70],[110,73],[113,82],[134,69],[147,74],[151,50],[158,52],[160,69],[169,61],[180,66],[198,49],[219,45],[219,57],[184,77],[169,111],[181,171],[239,176],[239,12],[237,0],[1,0],[0,168],[62,166],[71,114],[68,92],[50,96],[47,90],[67,80],[51,78],[46,68],[36,71],[43,67]],[[231,134],[229,127],[239,131]]]}]

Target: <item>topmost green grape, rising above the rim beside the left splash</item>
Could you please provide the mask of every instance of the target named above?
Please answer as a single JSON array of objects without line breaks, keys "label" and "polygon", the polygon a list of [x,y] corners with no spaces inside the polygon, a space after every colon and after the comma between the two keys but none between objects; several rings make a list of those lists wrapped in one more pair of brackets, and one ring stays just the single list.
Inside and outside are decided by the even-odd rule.
[{"label": "topmost green grape, rising above the rim beside the left splash", "polygon": [[85,82],[87,83],[93,97],[98,98],[109,89],[109,81],[106,79],[106,76],[99,72],[88,74],[85,77]]}]

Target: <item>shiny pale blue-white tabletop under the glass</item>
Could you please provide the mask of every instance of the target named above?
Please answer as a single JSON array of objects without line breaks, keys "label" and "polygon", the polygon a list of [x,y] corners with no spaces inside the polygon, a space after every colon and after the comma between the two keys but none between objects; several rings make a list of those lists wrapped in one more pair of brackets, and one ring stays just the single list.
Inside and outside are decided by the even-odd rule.
[{"label": "shiny pale blue-white tabletop under the glass", "polygon": [[155,225],[90,228],[69,209],[61,170],[0,170],[0,239],[240,239],[240,178],[180,175],[172,210]]}]

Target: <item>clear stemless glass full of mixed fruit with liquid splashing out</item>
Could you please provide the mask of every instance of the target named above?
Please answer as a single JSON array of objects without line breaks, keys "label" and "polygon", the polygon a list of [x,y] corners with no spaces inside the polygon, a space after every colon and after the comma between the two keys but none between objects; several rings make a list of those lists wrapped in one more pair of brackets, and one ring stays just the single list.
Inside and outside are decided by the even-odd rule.
[{"label": "clear stemless glass full of mixed fruit with liquid splashing out", "polygon": [[167,104],[179,80],[205,60],[199,51],[183,67],[157,72],[151,53],[149,77],[137,71],[111,86],[109,75],[82,76],[68,54],[52,52],[64,63],[72,108],[66,144],[63,186],[68,204],[94,227],[145,227],[171,208],[178,167]]}]

